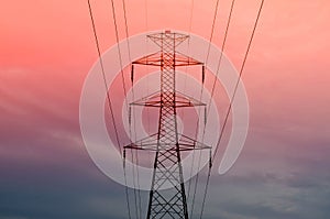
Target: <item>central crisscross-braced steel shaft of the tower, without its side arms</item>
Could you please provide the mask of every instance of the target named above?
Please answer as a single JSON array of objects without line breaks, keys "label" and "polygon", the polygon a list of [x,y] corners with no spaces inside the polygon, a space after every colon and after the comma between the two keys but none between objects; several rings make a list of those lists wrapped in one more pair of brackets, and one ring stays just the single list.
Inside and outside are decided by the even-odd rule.
[{"label": "central crisscross-braced steel shaft of the tower, without its side arms", "polygon": [[[147,219],[185,218],[188,219],[180,152],[177,135],[175,108],[175,46],[182,41],[175,34],[161,34],[151,39],[161,45],[161,111],[157,141],[164,151],[156,152],[153,185],[150,194]],[[158,145],[160,145],[158,144]],[[169,191],[162,190],[165,180],[173,184]],[[165,193],[162,195],[162,193]],[[166,195],[166,196],[165,196]]]}]

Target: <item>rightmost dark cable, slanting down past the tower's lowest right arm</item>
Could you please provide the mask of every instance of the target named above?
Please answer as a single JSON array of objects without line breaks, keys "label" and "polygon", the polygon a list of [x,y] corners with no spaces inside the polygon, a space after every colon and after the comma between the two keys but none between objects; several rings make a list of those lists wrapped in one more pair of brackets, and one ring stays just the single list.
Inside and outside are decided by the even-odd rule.
[{"label": "rightmost dark cable, slanting down past the tower's lowest right arm", "polygon": [[[263,6],[264,6],[264,0],[261,1],[260,8],[258,8],[258,12],[257,12],[257,15],[256,15],[256,19],[255,19],[255,22],[254,22],[252,34],[250,36],[248,48],[246,48],[246,52],[245,52],[245,55],[244,55],[244,58],[243,58],[243,63],[242,63],[242,66],[241,66],[241,69],[240,69],[239,78],[237,80],[237,84],[235,84],[235,87],[234,87],[234,91],[233,91],[232,98],[230,100],[230,105],[229,105],[229,108],[227,110],[227,114],[226,114],[226,118],[224,118],[224,121],[223,121],[223,125],[221,128],[220,136],[219,136],[217,145],[216,145],[216,151],[215,151],[215,154],[213,154],[213,157],[212,157],[212,162],[215,162],[215,157],[217,155],[217,152],[218,152],[218,149],[219,149],[219,145],[220,145],[223,132],[224,132],[224,128],[226,128],[227,122],[228,122],[228,118],[229,118],[229,114],[230,114],[230,111],[231,111],[231,108],[232,108],[232,103],[234,101],[239,84],[241,81],[241,77],[242,77],[242,74],[243,74],[243,70],[244,70],[244,67],[245,67],[245,63],[246,63],[246,59],[248,59],[248,56],[249,56],[250,47],[252,45],[252,41],[253,41],[254,33],[255,33],[255,30],[256,30],[256,26],[257,26],[260,17],[261,17],[261,12],[262,12]],[[204,213],[204,209],[205,209],[205,201],[206,201],[206,196],[207,196],[207,191],[208,191],[210,175],[211,175],[211,168],[209,169],[208,177],[207,177],[206,190],[205,190],[204,198],[202,198],[202,204],[201,204],[200,219],[202,218],[202,213]]]}]

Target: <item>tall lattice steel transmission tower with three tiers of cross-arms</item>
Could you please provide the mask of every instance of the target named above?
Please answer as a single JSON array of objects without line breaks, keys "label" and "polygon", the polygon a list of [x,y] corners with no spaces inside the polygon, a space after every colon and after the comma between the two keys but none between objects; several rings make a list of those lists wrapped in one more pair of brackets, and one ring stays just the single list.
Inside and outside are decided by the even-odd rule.
[{"label": "tall lattice steel transmission tower with three tiers of cross-arms", "polygon": [[[180,152],[210,147],[197,142],[194,138],[178,133],[177,108],[205,107],[206,105],[176,91],[176,67],[200,65],[202,66],[202,78],[205,67],[202,63],[176,52],[176,47],[187,40],[188,35],[165,31],[147,37],[161,50],[133,62],[132,74],[134,65],[158,66],[161,68],[161,90],[131,102],[130,106],[160,108],[158,130],[147,138],[127,145],[125,149],[155,152],[146,219],[188,219]],[[173,188],[164,190],[164,186],[168,183]]]}]

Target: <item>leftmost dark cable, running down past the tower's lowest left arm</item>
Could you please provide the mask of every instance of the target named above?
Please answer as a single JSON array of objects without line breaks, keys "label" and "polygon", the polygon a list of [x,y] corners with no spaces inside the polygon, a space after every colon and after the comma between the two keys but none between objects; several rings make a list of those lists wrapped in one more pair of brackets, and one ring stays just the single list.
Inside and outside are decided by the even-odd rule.
[{"label": "leftmost dark cable, running down past the tower's lowest left arm", "polygon": [[[101,52],[100,52],[100,45],[99,45],[99,40],[98,40],[97,30],[96,30],[96,25],[95,25],[95,19],[94,19],[94,15],[92,15],[92,9],[91,9],[91,6],[90,6],[90,1],[88,0],[87,2],[88,2],[88,9],[89,9],[89,15],[90,15],[90,20],[91,20],[95,42],[96,42],[96,46],[97,46],[97,51],[98,51],[99,62],[100,62],[100,66],[101,66],[102,78],[103,78],[103,83],[105,83],[105,87],[106,87],[106,91],[107,91],[108,107],[109,107],[109,111],[110,111],[111,119],[112,119],[112,124],[113,124],[113,129],[114,129],[114,133],[116,133],[117,144],[120,147],[119,152],[122,156],[122,149],[121,149],[121,144],[120,144],[120,141],[119,141],[118,129],[117,129],[117,124],[116,124],[116,120],[114,120],[114,114],[113,114],[113,109],[112,109],[110,95],[109,95],[109,88],[108,88],[108,84],[107,84],[107,76],[106,76],[103,59],[102,59]],[[131,219],[131,207],[130,207],[130,198],[129,198],[129,191],[128,191],[128,186],[127,186],[127,175],[125,175],[124,163],[123,163],[123,171],[124,171],[124,182],[125,182],[124,187],[125,187],[125,196],[127,196],[127,207],[128,207],[128,212],[129,212],[129,219]]]}]

